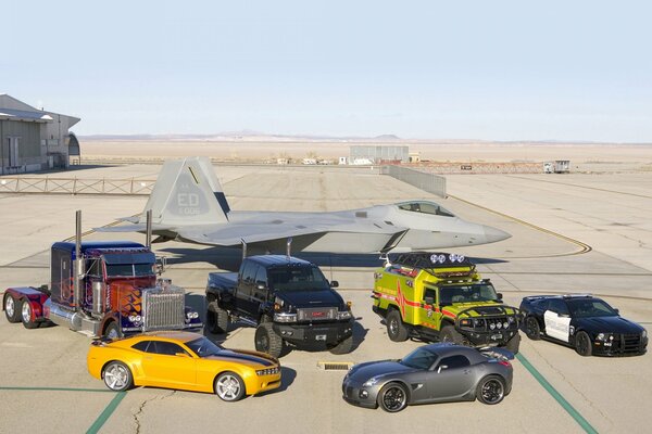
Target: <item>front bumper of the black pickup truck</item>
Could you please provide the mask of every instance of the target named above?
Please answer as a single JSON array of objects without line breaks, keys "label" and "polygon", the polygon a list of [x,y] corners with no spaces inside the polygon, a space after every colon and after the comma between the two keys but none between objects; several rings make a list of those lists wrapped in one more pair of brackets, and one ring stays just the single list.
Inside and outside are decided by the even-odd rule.
[{"label": "front bumper of the black pickup truck", "polygon": [[337,344],[353,334],[353,319],[337,322],[274,323],[274,331],[292,344]]}]

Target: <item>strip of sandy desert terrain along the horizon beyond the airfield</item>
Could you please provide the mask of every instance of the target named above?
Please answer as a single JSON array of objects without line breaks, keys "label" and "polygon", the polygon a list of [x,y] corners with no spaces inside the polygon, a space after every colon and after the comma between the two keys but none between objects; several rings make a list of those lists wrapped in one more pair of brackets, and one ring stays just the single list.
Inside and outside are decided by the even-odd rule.
[{"label": "strip of sandy desert terrain along the horizon beyond the airfield", "polygon": [[273,141],[104,141],[82,139],[83,158],[158,159],[189,155],[221,161],[261,163],[289,156],[301,159],[318,156],[337,161],[349,155],[352,144],[410,146],[422,159],[434,162],[546,162],[569,159],[576,170],[652,170],[652,144],[518,144],[518,143],[439,143],[439,142],[273,142]]}]

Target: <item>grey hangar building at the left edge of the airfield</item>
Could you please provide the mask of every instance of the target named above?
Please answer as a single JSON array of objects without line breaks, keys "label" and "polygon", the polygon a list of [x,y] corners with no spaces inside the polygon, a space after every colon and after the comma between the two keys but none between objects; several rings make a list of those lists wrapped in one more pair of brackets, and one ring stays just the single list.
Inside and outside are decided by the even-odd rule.
[{"label": "grey hangar building at the left edge of the airfield", "polygon": [[68,130],[79,120],[0,94],[0,175],[68,167],[70,156],[79,155]]}]

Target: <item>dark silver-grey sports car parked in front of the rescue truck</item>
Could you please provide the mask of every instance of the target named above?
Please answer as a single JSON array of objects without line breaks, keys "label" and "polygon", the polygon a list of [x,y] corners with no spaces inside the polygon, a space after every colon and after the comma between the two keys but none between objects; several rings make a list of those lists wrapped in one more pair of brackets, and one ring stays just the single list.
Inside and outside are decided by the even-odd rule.
[{"label": "dark silver-grey sports car parked in front of the rescue truck", "polygon": [[342,382],[350,404],[397,412],[409,404],[479,399],[500,403],[512,390],[514,355],[449,343],[425,345],[401,360],[355,365]]}]

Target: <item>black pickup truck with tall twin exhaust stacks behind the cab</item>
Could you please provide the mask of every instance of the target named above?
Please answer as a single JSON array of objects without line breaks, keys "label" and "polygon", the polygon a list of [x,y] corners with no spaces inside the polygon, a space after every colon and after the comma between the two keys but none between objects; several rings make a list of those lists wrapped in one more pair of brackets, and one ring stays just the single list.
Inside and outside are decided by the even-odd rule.
[{"label": "black pickup truck with tall twin exhaust stacks behind the cab", "polygon": [[278,357],[284,342],[325,346],[333,354],[353,347],[350,303],[333,289],[319,268],[280,255],[244,258],[240,271],[212,272],[206,285],[206,324],[225,333],[229,320],[255,330],[255,349]]}]

